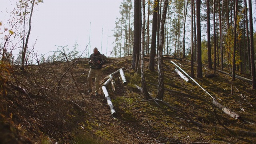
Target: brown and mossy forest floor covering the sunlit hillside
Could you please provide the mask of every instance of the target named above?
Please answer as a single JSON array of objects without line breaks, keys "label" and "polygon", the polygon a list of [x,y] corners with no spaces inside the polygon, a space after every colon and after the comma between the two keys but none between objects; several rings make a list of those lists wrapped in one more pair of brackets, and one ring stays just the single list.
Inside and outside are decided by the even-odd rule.
[{"label": "brown and mossy forest floor covering the sunlit hillside", "polygon": [[[213,106],[211,96],[195,82],[186,82],[174,72],[176,66],[170,60],[190,74],[188,60],[164,58],[163,100],[174,108],[162,102],[138,102],[144,96],[134,86],[141,86],[141,78],[140,72],[131,69],[131,56],[107,60],[101,82],[122,67],[128,82],[122,84],[117,73],[113,75],[115,91],[107,86],[116,118],[101,88],[100,96],[87,92],[86,58],[26,66],[25,72],[18,66],[9,68],[4,75],[6,94],[0,96],[0,144],[256,143],[256,90],[251,90],[249,82],[232,81],[220,72],[212,78],[195,78],[217,102],[240,115],[236,120]],[[149,71],[148,62],[146,56],[147,89],[155,98],[158,72]],[[196,65],[194,71],[196,76]],[[203,67],[204,75],[213,73]]]}]

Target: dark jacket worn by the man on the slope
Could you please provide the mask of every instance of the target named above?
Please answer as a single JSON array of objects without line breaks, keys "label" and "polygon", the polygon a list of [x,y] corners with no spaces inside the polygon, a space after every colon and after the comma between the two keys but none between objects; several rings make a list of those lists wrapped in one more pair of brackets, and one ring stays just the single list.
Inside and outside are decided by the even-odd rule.
[{"label": "dark jacket worn by the man on the slope", "polygon": [[[93,62],[90,63],[90,60],[92,60]],[[99,64],[97,62],[98,60],[100,61]],[[101,69],[103,64],[104,64],[103,56],[102,56],[102,54],[100,54],[99,51],[98,51],[98,54],[96,54],[96,55],[94,55],[94,54],[90,55],[90,59],[89,59],[90,68]]]}]

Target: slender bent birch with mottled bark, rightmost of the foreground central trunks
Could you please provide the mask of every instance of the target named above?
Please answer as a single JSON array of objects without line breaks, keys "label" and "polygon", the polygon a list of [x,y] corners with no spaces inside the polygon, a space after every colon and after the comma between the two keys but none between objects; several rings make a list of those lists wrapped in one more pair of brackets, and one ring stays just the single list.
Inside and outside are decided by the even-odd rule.
[{"label": "slender bent birch with mottled bark, rightmost of the foreground central trunks", "polygon": [[161,19],[160,41],[158,45],[158,86],[157,98],[162,100],[164,98],[164,62],[163,62],[163,44],[164,44],[164,23],[166,19],[168,0],[164,0],[163,14]]}]

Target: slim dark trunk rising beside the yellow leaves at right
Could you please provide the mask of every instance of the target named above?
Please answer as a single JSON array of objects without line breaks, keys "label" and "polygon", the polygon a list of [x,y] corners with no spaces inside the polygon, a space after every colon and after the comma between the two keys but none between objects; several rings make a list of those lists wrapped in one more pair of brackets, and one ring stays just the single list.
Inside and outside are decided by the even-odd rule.
[{"label": "slim dark trunk rising beside the yellow leaves at right", "polygon": [[236,0],[235,4],[235,19],[234,19],[234,48],[233,48],[233,68],[232,68],[232,80],[236,80],[236,20],[237,20],[237,6],[238,6],[238,0]]}]

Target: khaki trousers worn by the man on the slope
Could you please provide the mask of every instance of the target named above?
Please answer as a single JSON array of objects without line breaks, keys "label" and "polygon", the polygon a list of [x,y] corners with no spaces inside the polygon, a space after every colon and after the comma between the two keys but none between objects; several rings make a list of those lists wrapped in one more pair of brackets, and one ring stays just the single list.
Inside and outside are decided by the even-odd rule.
[{"label": "khaki trousers worn by the man on the slope", "polygon": [[99,88],[100,88],[100,74],[101,74],[101,70],[98,69],[92,69],[90,68],[89,74],[88,74],[88,88],[89,90],[92,90],[92,77],[95,76],[95,83],[96,83],[96,89],[95,92],[99,92]]}]

